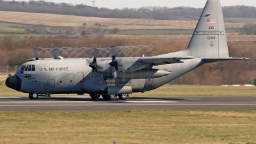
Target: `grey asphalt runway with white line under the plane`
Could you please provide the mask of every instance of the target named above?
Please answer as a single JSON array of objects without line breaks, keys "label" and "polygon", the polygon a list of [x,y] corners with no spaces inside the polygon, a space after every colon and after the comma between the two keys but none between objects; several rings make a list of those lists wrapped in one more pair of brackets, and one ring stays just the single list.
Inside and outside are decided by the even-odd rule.
[{"label": "grey asphalt runway with white line under the plane", "polygon": [[0,111],[109,111],[129,109],[256,109],[256,97],[0,97]]}]

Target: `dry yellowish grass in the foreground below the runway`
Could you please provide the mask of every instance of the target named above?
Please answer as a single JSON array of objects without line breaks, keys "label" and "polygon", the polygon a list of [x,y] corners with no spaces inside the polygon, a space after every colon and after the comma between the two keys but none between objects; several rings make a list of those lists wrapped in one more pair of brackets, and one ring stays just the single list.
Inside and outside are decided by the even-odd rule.
[{"label": "dry yellowish grass in the foreground below the runway", "polygon": [[256,111],[0,112],[0,143],[255,144]]}]

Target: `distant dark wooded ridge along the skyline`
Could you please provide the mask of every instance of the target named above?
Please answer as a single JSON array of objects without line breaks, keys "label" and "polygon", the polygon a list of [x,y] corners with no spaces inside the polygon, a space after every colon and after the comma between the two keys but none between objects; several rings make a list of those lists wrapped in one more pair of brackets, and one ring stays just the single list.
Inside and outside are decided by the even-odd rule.
[{"label": "distant dark wooded ridge along the skyline", "polygon": [[[202,3],[205,3],[202,1]],[[157,19],[157,20],[195,20],[200,17],[202,8],[172,6],[149,6],[143,8],[108,9],[87,6],[85,4],[52,3],[47,1],[0,1],[0,11],[54,13],[62,15],[77,15],[84,17],[105,17],[118,19]],[[256,18],[256,8],[253,6],[224,6],[224,17]],[[232,20],[236,22],[236,20]]]}]

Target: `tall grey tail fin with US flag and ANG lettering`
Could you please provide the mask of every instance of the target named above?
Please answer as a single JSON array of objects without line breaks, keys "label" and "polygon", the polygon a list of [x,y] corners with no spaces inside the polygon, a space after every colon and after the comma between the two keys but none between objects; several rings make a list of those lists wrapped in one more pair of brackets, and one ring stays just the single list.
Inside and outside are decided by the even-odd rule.
[{"label": "tall grey tail fin with US flag and ANG lettering", "polygon": [[189,42],[188,56],[229,57],[220,0],[208,0]]}]

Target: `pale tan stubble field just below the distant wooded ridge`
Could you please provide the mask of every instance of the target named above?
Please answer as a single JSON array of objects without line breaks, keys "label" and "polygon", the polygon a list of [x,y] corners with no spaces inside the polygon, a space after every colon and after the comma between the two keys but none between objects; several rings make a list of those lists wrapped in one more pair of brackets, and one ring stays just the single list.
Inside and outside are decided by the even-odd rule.
[{"label": "pale tan stubble field just below the distant wooded ridge", "polygon": [[[40,19],[38,19],[40,17]],[[0,11],[0,21],[18,24],[44,24],[47,26],[82,26],[96,28],[95,23],[107,28],[120,29],[194,29],[197,21],[186,20],[151,20],[151,19],[108,19],[99,17],[79,17],[48,13],[24,13]],[[244,24],[226,23],[226,28],[242,28]]]}]

